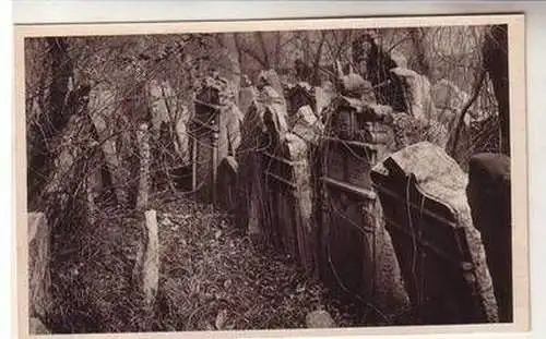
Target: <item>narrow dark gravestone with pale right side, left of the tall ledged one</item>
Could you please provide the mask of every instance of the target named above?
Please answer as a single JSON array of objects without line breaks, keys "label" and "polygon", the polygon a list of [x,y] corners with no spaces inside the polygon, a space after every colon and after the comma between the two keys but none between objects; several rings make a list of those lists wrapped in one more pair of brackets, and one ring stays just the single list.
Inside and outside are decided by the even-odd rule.
[{"label": "narrow dark gravestone with pale right side, left of the tall ledged one", "polygon": [[265,105],[261,161],[265,202],[265,237],[297,259],[309,273],[316,273],[316,230],[313,220],[311,169],[308,145],[286,132],[285,112]]}]

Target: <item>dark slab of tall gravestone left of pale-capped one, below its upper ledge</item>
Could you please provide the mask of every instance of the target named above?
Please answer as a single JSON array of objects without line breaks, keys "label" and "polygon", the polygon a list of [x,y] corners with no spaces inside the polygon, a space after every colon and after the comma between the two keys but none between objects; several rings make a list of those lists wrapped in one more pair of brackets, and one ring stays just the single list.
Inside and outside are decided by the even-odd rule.
[{"label": "dark slab of tall gravestone left of pale-capped one, below its upper ledge", "polygon": [[399,322],[410,301],[371,187],[373,147],[348,146],[343,142],[324,146],[322,275],[329,286],[358,295],[380,310],[389,322]]}]

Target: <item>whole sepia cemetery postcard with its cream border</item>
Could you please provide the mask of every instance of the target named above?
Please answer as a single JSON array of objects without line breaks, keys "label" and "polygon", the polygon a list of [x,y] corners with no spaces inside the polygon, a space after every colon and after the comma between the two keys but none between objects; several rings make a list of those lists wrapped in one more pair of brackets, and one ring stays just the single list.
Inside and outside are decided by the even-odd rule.
[{"label": "whole sepia cemetery postcard with its cream border", "polygon": [[530,329],[522,14],[19,25],[15,53],[21,338]]}]

